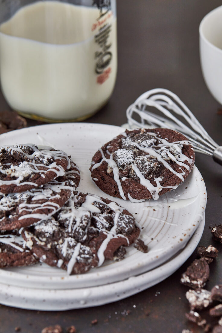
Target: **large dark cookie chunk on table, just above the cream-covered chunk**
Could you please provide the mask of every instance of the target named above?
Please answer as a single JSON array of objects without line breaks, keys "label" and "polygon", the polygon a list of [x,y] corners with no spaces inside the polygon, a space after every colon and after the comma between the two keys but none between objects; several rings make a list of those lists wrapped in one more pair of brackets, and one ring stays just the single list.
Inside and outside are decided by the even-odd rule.
[{"label": "large dark cookie chunk on table, just above the cream-covered chunk", "polygon": [[204,258],[195,259],[182,274],[180,282],[191,288],[202,288],[210,275],[209,265]]}]

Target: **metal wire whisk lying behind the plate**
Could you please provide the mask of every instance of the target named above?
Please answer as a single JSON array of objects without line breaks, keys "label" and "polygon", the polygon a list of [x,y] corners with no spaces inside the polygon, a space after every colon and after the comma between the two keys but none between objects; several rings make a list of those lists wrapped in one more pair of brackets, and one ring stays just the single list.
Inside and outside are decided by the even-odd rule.
[{"label": "metal wire whisk lying behind the plate", "polygon": [[[149,107],[158,109],[165,117],[150,112]],[[174,114],[183,117],[192,129],[183,124]],[[196,152],[212,156],[222,165],[222,146],[218,146],[213,141],[187,106],[171,91],[160,88],[147,91],[129,106],[126,116],[130,128],[161,127],[184,134]],[[139,121],[135,120],[138,116]]]}]

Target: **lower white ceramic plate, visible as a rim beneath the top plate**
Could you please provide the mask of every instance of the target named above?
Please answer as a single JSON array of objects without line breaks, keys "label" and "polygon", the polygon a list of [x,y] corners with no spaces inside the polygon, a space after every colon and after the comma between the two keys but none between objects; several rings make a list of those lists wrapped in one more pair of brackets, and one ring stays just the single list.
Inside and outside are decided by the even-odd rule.
[{"label": "lower white ceramic plate, visible as a rim beneath the top plate", "polygon": [[59,311],[98,306],[134,295],[166,279],[189,258],[202,236],[204,222],[205,215],[185,249],[167,263],[146,273],[99,287],[66,290],[20,288],[0,284],[0,302],[24,309]]}]

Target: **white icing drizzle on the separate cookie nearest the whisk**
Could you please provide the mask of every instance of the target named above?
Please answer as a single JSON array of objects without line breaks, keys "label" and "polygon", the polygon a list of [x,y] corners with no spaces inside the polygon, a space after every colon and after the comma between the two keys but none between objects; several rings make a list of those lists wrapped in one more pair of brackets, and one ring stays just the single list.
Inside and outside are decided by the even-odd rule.
[{"label": "white icing drizzle on the separate cookie nearest the whisk", "polygon": [[[141,133],[143,130],[141,130]],[[153,132],[149,132],[149,133],[146,133],[152,137],[155,137],[158,141],[160,141],[160,144],[157,144],[155,146],[153,146],[152,148],[151,147],[142,147],[140,146],[138,143],[136,142],[132,142],[133,146],[139,150],[142,150],[144,151],[145,153],[147,153],[147,155],[145,155],[144,157],[146,158],[154,158],[156,159],[158,162],[162,163],[167,169],[169,169],[173,174],[175,174],[178,178],[180,178],[182,181],[184,181],[184,174],[185,174],[185,171],[182,170],[181,167],[184,167],[186,168],[187,170],[190,171],[190,167],[183,163],[185,161],[188,162],[188,164],[192,164],[193,163],[193,160],[188,158],[186,155],[184,155],[182,153],[182,149],[179,148],[178,144],[182,144],[182,145],[191,145],[191,143],[188,141],[188,140],[183,140],[183,141],[176,141],[176,142],[172,142],[170,143],[168,140],[166,139],[162,139],[160,137],[158,137],[157,134],[153,133]],[[125,137],[127,137],[127,134],[124,132],[122,133],[121,135],[124,135]],[[130,140],[130,138],[129,138]],[[181,170],[181,172],[177,172],[175,171],[168,163],[167,161],[165,161],[162,156],[161,156],[161,153],[160,153],[160,150],[159,149],[156,149],[157,147],[169,147],[169,148],[173,148],[175,149],[176,152],[178,152],[178,155],[177,156],[174,156],[173,154],[171,154],[169,152],[169,150],[166,150],[166,154],[168,155],[168,157],[173,161],[175,162],[177,165],[181,166],[179,169]],[[118,186],[118,189],[119,189],[119,193],[121,195],[121,197],[126,200],[126,197],[124,195],[124,192],[123,192],[123,188],[122,188],[122,184],[121,184],[121,180],[124,181],[126,180],[127,178],[126,177],[123,177],[121,180],[119,178],[119,168],[117,166],[117,163],[113,160],[113,153],[110,155],[110,158],[107,159],[105,156],[104,156],[104,153],[102,151],[102,149],[99,149],[100,153],[101,153],[101,156],[102,156],[102,160],[99,162],[99,163],[95,163],[93,166],[92,166],[92,171],[94,169],[96,169],[97,167],[99,167],[103,162],[106,162],[108,164],[108,167],[111,167],[113,169],[113,175],[114,175],[114,180],[115,182],[117,183],[117,186]],[[131,163],[131,167],[132,169],[134,170],[135,174],[137,175],[137,177],[140,179],[140,183],[145,186],[147,188],[148,191],[150,191],[151,195],[152,195],[152,198],[154,200],[157,200],[159,198],[159,192],[163,189],[163,188],[177,188],[178,185],[175,185],[175,186],[162,186],[160,184],[160,181],[162,181],[162,178],[158,177],[158,178],[155,178],[154,181],[156,182],[156,185],[157,186],[154,186],[151,184],[150,180],[146,179],[144,177],[144,175],[140,172],[139,168],[134,164],[134,163]],[[141,202],[143,200],[136,200],[134,198],[132,198],[130,196],[130,194],[128,193],[128,198],[130,201],[132,202]],[[133,201],[133,200],[136,200],[136,201]]]}]

